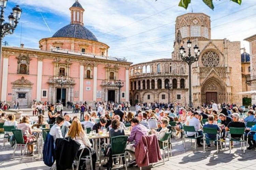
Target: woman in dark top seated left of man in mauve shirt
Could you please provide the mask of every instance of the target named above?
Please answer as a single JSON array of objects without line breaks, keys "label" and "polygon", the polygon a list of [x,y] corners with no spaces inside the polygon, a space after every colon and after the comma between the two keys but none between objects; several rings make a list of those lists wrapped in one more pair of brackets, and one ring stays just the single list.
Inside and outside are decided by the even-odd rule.
[{"label": "woman in dark top seated left of man in mauve shirt", "polygon": [[[120,128],[120,121],[119,120],[114,119],[111,122],[111,126],[112,126],[112,129],[109,131],[110,142],[111,142],[111,137],[125,135],[124,130],[122,128]],[[105,165],[103,165],[103,167],[105,167],[105,168],[107,168],[109,170],[109,169],[112,168],[112,164],[113,164],[112,155],[109,154],[108,162]]]}]

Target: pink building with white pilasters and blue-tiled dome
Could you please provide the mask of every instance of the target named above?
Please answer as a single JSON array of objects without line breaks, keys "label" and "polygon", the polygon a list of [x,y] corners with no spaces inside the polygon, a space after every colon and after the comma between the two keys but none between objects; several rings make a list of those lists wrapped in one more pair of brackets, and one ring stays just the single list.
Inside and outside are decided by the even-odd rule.
[{"label": "pink building with white pilasters and blue-tiled dome", "polygon": [[[129,66],[109,57],[109,46],[83,26],[84,9],[70,7],[71,23],[53,37],[39,41],[40,50],[3,47],[0,70],[1,101],[19,101],[29,107],[35,101],[129,101]],[[60,77],[67,80],[61,85]],[[115,82],[124,82],[120,94]],[[62,90],[62,99],[61,99]]]}]

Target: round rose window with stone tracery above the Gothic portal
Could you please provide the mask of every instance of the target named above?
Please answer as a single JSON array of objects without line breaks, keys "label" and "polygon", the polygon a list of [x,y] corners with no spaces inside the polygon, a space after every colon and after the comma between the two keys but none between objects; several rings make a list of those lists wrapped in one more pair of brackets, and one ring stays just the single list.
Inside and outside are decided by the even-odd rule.
[{"label": "round rose window with stone tracery above the Gothic portal", "polygon": [[219,65],[219,55],[215,51],[207,51],[202,55],[202,63],[205,67],[216,67]]}]

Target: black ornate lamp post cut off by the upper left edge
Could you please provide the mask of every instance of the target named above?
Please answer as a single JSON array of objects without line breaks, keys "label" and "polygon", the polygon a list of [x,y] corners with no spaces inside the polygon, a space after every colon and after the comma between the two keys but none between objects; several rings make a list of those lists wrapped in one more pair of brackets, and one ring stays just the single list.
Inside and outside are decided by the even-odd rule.
[{"label": "black ornate lamp post cut off by the upper left edge", "polygon": [[14,8],[12,8],[13,12],[11,15],[8,16],[9,23],[4,22],[4,8],[6,7],[6,3],[8,0],[0,0],[0,8],[1,8],[1,14],[0,14],[0,61],[2,56],[2,39],[5,35],[13,34],[15,28],[17,27],[18,20],[20,19],[20,15],[22,13],[22,10],[19,8],[19,5],[16,5]]}]

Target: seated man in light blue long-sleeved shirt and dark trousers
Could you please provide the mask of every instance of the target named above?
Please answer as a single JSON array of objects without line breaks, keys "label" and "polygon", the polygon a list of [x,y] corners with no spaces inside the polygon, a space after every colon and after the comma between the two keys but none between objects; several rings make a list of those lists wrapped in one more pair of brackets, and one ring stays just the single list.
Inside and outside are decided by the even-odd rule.
[{"label": "seated man in light blue long-sleeved shirt and dark trousers", "polygon": [[[200,118],[200,115],[199,113],[195,112],[193,113],[194,117],[191,118],[191,120],[189,121],[189,126],[194,126],[195,127],[195,131],[198,132],[198,136],[202,135],[202,131],[200,131],[201,129],[201,124],[200,124],[200,121],[199,121],[199,118]],[[195,136],[195,133],[194,132],[187,132],[187,136],[189,137],[196,137]],[[197,138],[197,146],[198,147],[202,147],[202,144],[201,144],[201,138]]]}]

